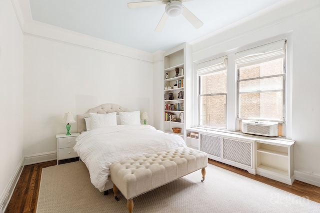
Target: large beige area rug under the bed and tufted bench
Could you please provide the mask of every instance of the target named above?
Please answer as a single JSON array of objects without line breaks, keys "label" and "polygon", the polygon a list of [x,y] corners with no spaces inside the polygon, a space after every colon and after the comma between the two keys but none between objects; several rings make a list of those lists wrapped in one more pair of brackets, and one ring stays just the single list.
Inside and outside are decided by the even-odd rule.
[{"label": "large beige area rug under the bed and tufted bench", "polygon": [[[320,204],[208,165],[133,199],[134,213],[319,213]],[[308,195],[305,195],[307,197]],[[104,196],[83,162],[42,170],[37,213],[126,213],[126,200]]]}]

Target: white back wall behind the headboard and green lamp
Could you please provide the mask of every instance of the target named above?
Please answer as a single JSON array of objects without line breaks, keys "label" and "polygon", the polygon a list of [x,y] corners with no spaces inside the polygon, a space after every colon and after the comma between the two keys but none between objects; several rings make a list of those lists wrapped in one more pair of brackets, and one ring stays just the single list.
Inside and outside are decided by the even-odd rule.
[{"label": "white back wall behind the headboard and green lamp", "polygon": [[[76,119],[103,103],[146,111],[152,125],[152,76],[151,61],[25,35],[23,154],[55,152],[55,135],[66,132],[64,113]],[[77,132],[76,123],[70,125]]]}]

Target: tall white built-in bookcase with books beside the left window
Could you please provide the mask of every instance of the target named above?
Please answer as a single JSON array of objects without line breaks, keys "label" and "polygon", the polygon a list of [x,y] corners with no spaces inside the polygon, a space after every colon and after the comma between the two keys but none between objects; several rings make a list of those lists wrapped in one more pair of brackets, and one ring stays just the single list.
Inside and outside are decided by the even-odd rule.
[{"label": "tall white built-in bookcase with books beside the left window", "polygon": [[[190,66],[186,63],[188,58],[188,44],[179,45],[163,54],[163,117],[162,131],[180,135],[186,140],[186,73]],[[191,61],[191,60],[189,60]],[[180,128],[174,132],[172,128]]]}]

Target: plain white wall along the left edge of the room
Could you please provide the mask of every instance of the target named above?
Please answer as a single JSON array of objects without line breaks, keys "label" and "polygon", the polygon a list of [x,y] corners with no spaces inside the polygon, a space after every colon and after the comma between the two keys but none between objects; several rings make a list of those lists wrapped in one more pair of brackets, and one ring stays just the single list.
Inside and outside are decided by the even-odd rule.
[{"label": "plain white wall along the left edge of the room", "polygon": [[10,0],[0,1],[0,114],[1,212],[23,163],[23,34]]}]

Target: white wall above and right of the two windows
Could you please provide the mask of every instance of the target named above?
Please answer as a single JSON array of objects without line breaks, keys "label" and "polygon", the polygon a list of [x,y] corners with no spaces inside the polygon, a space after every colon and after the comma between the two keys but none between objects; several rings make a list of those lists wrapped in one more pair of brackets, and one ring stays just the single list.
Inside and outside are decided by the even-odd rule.
[{"label": "white wall above and right of the two windows", "polygon": [[[291,139],[294,145],[294,170],[297,180],[320,186],[320,120],[319,51],[320,2],[287,1],[272,12],[252,16],[203,40],[192,43],[193,60],[200,60],[258,43],[272,37],[287,37],[292,49],[288,72],[292,77]],[[292,13],[296,15],[292,16]],[[290,79],[287,79],[290,80]],[[289,116],[290,117],[290,116]]]}]

